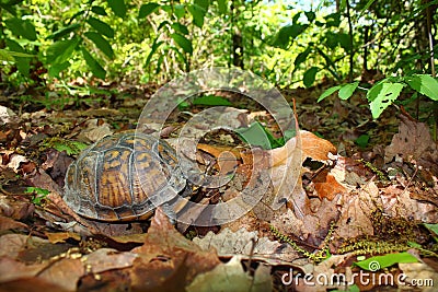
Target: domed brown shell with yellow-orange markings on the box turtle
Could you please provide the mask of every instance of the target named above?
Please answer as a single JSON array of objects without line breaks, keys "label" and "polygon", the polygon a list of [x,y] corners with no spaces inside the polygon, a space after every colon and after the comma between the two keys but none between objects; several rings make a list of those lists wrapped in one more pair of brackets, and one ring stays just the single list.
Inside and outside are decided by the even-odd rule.
[{"label": "domed brown shell with yellow-orange markings on the box turtle", "polygon": [[169,187],[177,194],[185,185],[175,150],[165,141],[118,133],[85,149],[70,165],[64,199],[82,217],[129,221],[150,215],[151,198],[166,201]]}]

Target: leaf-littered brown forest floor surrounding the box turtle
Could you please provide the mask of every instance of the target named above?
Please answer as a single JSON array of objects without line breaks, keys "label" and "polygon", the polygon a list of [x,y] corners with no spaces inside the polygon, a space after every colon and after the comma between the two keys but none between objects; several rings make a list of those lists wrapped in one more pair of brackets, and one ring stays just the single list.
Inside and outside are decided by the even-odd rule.
[{"label": "leaf-littered brown forest floor surrounding the box turtle", "polygon": [[[438,147],[428,126],[395,107],[373,120],[362,96],[316,103],[322,87],[281,91],[295,103],[301,130],[302,148],[291,154],[301,154],[263,151],[279,162],[266,166],[270,195],[251,212],[220,225],[177,229],[161,210],[138,225],[84,220],[90,233],[61,206],[68,165],[83,147],[136,129],[158,87],[110,84],[87,93],[72,86],[69,96],[0,90],[0,291],[438,289]],[[258,120],[277,138],[264,108],[223,97],[246,109],[246,125]],[[172,144],[205,108],[178,107],[160,136]],[[297,145],[298,139],[289,141]],[[249,162],[245,150],[233,132],[208,133],[197,145],[199,167],[229,167],[238,182],[197,188],[193,200],[227,201],[252,175],[263,175],[254,170],[256,154]],[[237,164],[219,165],[223,151]],[[289,203],[274,210],[269,196],[288,162],[299,164],[296,184]],[[261,186],[253,184],[256,192]]]}]

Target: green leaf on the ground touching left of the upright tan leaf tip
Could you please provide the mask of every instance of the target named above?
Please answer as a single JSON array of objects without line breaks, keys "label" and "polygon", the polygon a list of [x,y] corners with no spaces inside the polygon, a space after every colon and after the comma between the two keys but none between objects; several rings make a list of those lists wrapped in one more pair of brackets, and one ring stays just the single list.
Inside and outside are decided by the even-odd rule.
[{"label": "green leaf on the ground touching left of the upright tan leaf tip", "polygon": [[242,141],[251,145],[258,145],[263,149],[279,147],[278,141],[276,141],[273,135],[258,121],[251,124],[247,128],[235,129],[235,131],[239,133]]}]

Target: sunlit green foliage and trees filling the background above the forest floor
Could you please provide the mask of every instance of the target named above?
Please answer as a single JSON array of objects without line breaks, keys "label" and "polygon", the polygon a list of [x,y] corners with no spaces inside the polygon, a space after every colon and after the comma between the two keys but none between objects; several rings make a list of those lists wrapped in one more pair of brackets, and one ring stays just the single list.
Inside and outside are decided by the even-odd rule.
[{"label": "sunlit green foliage and trees filling the background above the forest floor", "polygon": [[163,83],[232,66],[279,86],[434,73],[437,3],[1,0],[1,82]]}]

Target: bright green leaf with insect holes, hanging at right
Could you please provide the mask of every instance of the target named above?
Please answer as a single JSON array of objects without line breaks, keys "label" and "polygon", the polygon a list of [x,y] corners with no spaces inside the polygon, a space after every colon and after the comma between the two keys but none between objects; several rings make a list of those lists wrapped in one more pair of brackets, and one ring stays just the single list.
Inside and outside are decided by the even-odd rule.
[{"label": "bright green leaf with insect holes, hanging at right", "polygon": [[381,82],[372,86],[367,93],[372,117],[378,118],[399,97],[403,87],[402,83],[390,82]]}]

